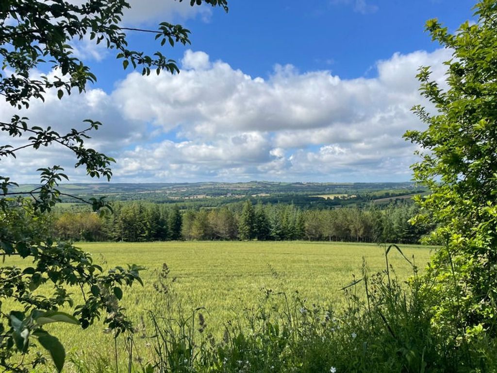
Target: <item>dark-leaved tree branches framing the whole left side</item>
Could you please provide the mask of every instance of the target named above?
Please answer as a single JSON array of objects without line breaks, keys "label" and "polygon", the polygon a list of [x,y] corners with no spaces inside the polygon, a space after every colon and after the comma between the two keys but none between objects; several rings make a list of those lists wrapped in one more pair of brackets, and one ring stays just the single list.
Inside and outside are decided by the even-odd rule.
[{"label": "dark-leaved tree branches framing the whole left side", "polygon": [[[226,0],[204,2],[227,9]],[[201,4],[202,0],[190,3]],[[1,1],[0,95],[21,109],[27,108],[32,100],[43,100],[49,90],[56,90],[60,99],[74,91],[82,93],[86,84],[96,80],[90,69],[72,54],[74,42],[86,36],[96,44],[104,43],[108,49],[115,50],[125,69],[131,65],[141,68],[146,75],[152,70],[178,72],[176,63],[161,52],[150,57],[129,49],[126,32],[147,32],[159,39],[161,45],[173,46],[189,43],[189,31],[167,22],[161,23],[157,31],[123,27],[121,16],[129,7],[125,0]],[[35,69],[39,67],[52,68],[53,74],[37,77]],[[56,124],[42,128],[31,126],[28,118],[19,115],[0,118],[2,132],[11,138],[26,140],[23,145],[1,144],[0,159],[15,158],[23,149],[37,150],[58,144],[74,154],[75,166],[84,167],[90,177],[109,180],[114,160],[84,145],[90,131],[100,125],[88,119],[86,128],[59,133],[54,127]],[[122,297],[122,286],[131,285],[135,280],[141,282],[138,266],[127,270],[118,267],[104,274],[93,264],[90,255],[72,244],[54,242],[46,229],[47,217],[43,213],[60,200],[63,193],[57,186],[68,177],[60,166],[44,166],[39,165],[38,169],[41,185],[28,192],[12,189],[16,184],[11,176],[0,176],[0,255],[26,259],[23,270],[8,265],[0,268],[0,299],[15,303],[11,310],[0,310],[0,366],[4,371],[27,372],[43,362],[36,354],[27,355],[33,343],[47,349],[57,370],[62,370],[65,351],[43,328],[48,322],[66,321],[86,328],[100,315],[105,315],[104,322],[116,336],[131,330],[116,300]],[[103,198],[86,202],[94,210],[106,206]],[[34,291],[44,283],[53,286],[53,295],[35,295]],[[66,285],[79,285],[85,299],[83,304],[73,306]],[[59,311],[66,304],[73,310],[72,315]],[[25,359],[15,358],[16,354],[24,354]]]}]

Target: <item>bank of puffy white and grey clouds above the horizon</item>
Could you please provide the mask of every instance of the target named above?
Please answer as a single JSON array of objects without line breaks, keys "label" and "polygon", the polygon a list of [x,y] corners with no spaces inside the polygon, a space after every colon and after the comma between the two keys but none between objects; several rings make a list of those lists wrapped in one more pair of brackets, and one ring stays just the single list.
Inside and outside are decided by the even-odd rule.
[{"label": "bank of puffy white and grey clouds above the horizon", "polygon": [[50,93],[27,115],[66,129],[105,122],[91,144],[117,159],[116,181],[409,180],[415,147],[402,135],[424,127],[410,111],[423,103],[414,76],[430,65],[443,82],[449,58],[444,49],[395,54],[367,79],[289,65],[262,79],[187,51],[178,75],[133,72],[111,93],[62,101]]}]

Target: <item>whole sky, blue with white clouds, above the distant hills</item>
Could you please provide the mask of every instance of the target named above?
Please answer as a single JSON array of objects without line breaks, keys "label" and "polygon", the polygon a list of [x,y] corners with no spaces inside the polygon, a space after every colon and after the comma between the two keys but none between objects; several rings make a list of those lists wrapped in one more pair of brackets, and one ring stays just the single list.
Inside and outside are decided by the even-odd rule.
[{"label": "whole sky, blue with white clouds, above the distant hills", "polygon": [[[130,3],[125,26],[191,31],[192,44],[174,48],[128,34],[130,49],[161,50],[179,74],[143,77],[77,41],[97,82],[62,100],[49,92],[20,113],[0,101],[2,119],[21,114],[60,131],[101,121],[87,144],[116,159],[112,182],[404,182],[418,158],[403,134],[425,127],[411,107],[429,108],[416,71],[431,66],[443,86],[451,57],[424,23],[436,17],[455,32],[475,1],[231,0],[228,13],[186,0]],[[60,165],[72,182],[94,182],[75,163],[64,149],[26,149],[2,159],[0,175],[33,183],[37,168]]]}]

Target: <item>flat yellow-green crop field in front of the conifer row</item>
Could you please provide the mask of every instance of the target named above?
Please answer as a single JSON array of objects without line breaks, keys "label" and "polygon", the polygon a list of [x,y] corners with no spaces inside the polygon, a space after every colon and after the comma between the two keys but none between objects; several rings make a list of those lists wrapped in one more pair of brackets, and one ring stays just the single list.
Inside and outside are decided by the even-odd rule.
[{"label": "flat yellow-green crop field in front of the conifer row", "polygon": [[[170,269],[177,302],[189,312],[205,307],[203,314],[209,331],[219,335],[228,320],[240,318],[244,307],[258,303],[263,289],[299,291],[302,298],[319,304],[343,305],[339,290],[350,283],[352,275],[361,276],[364,257],[370,272],[385,268],[384,247],[374,244],[335,242],[157,242],[157,243],[81,243],[92,253],[94,262],[104,268],[139,264],[147,267],[142,273],[145,286],[139,284],[125,291],[124,305],[136,325],[149,323],[146,310],[161,311],[162,295],[154,289],[158,271],[166,263]],[[422,246],[401,246],[408,258],[423,268],[430,249]],[[389,263],[397,276],[405,279],[412,268],[398,252],[391,252]],[[5,265],[22,265],[7,258]],[[77,289],[75,297],[78,298]],[[147,329],[150,328],[150,325]],[[51,326],[68,352],[86,356],[113,356],[113,339],[102,333],[102,324],[81,330],[73,325]],[[150,329],[149,329],[150,331]],[[137,348],[146,350],[147,339],[137,341]],[[147,352],[140,352],[148,355]]]}]

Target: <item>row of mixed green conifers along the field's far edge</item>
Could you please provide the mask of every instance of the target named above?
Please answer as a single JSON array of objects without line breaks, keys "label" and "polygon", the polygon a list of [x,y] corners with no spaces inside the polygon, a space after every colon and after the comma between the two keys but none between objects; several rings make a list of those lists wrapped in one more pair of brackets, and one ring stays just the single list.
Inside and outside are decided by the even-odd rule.
[{"label": "row of mixed green conifers along the field's far edge", "polygon": [[414,204],[380,209],[306,210],[293,204],[256,204],[179,210],[164,204],[116,203],[114,213],[64,212],[54,216],[60,239],[75,241],[327,240],[417,243],[430,226],[413,226]]}]

